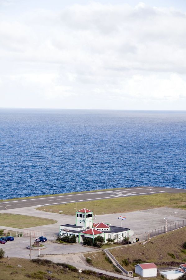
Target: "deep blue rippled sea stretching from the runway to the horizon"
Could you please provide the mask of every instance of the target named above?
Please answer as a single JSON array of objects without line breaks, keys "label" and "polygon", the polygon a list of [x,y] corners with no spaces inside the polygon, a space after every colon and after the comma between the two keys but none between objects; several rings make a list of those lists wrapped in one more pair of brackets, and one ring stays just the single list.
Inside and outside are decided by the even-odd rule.
[{"label": "deep blue rippled sea stretching from the runway to the horizon", "polygon": [[186,111],[0,109],[0,198],[186,188]]}]

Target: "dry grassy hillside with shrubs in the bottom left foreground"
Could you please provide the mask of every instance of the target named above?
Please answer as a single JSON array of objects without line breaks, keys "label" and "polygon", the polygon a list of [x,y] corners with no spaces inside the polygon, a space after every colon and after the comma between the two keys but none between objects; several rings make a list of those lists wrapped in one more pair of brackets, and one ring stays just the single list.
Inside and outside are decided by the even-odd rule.
[{"label": "dry grassy hillside with shrubs in the bottom left foreground", "polygon": [[[1,280],[115,280],[119,278],[104,276],[91,271],[78,272],[78,269],[68,264],[55,264],[45,259],[20,259],[10,258],[0,261]],[[93,274],[93,275],[92,275]]]}]

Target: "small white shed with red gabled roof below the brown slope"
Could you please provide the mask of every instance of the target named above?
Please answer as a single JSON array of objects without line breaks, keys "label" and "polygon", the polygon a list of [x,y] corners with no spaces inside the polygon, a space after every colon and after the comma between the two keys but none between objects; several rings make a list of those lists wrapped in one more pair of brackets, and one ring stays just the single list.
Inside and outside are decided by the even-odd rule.
[{"label": "small white shed with red gabled roof below the brown slope", "polygon": [[135,273],[142,277],[155,277],[157,276],[157,266],[154,263],[137,264],[135,265]]}]

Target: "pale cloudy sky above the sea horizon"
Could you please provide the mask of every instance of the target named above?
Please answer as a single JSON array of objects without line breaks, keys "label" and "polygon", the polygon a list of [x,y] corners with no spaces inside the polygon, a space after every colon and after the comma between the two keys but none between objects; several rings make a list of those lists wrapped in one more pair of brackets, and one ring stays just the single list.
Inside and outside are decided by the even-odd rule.
[{"label": "pale cloudy sky above the sea horizon", "polygon": [[0,0],[0,107],[186,110],[185,0]]}]

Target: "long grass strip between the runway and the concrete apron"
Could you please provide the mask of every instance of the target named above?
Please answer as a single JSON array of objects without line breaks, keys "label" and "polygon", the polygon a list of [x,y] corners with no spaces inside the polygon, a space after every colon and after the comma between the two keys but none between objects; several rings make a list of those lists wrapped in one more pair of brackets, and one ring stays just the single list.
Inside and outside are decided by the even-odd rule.
[{"label": "long grass strip between the runway and the concrete apron", "polygon": [[[112,207],[110,207],[112,205]],[[152,194],[152,195],[140,195],[132,197],[119,197],[110,199],[92,200],[89,202],[78,202],[77,210],[82,208],[92,209],[94,206],[94,212],[99,214],[110,214],[120,212],[130,212],[136,210],[144,210],[157,207],[176,207],[186,209],[186,194]],[[76,203],[67,203],[59,205],[41,206],[36,208],[42,211],[63,213],[66,215],[75,215]],[[52,211],[49,211],[52,209]],[[59,212],[63,211],[63,212]]]}]

